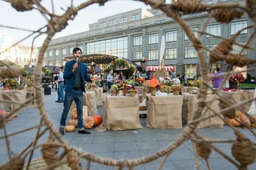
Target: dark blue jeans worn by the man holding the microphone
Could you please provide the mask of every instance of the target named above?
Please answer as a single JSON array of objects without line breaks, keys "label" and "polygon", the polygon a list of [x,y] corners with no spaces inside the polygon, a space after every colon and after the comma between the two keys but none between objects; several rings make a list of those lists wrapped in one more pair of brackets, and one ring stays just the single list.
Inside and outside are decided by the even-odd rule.
[{"label": "dark blue jeans worn by the man holding the microphone", "polygon": [[78,130],[83,130],[83,90],[71,90],[70,93],[65,92],[64,97],[64,109],[62,112],[62,118],[60,119],[60,127],[65,127],[66,117],[68,116],[70,106],[73,102],[76,103]]}]

